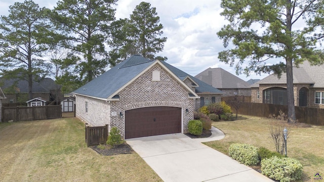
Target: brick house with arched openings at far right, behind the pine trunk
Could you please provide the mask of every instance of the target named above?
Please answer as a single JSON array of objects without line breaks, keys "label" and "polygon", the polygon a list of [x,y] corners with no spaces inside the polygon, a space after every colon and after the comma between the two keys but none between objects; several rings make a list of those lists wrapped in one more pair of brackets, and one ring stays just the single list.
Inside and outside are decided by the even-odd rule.
[{"label": "brick house with arched openings at far right, behind the pine trunk", "polygon": [[[295,106],[324,108],[324,65],[293,67]],[[269,75],[251,85],[252,102],[287,105],[287,76]]]}]

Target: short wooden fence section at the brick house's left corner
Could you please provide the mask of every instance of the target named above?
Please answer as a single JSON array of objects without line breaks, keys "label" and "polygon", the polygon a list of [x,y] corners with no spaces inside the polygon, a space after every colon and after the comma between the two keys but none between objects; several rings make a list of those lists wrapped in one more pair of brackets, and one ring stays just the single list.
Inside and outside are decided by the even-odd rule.
[{"label": "short wooden fence section at the brick house's left corner", "polygon": [[105,144],[108,139],[108,125],[88,126],[86,123],[86,143],[87,146]]}]

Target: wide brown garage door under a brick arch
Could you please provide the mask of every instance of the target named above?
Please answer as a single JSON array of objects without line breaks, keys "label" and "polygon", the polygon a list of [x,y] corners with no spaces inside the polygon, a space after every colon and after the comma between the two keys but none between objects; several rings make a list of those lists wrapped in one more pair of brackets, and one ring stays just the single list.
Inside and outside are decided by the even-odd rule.
[{"label": "wide brown garage door under a brick arch", "polygon": [[125,112],[125,139],[181,132],[181,108],[147,107]]}]

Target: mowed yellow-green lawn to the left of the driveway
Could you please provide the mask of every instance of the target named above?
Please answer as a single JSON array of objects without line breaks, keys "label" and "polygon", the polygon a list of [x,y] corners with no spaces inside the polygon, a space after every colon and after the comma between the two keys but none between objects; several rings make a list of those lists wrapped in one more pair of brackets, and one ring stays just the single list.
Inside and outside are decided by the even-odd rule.
[{"label": "mowed yellow-green lawn to the left of the driveway", "polygon": [[102,156],[76,118],[0,123],[1,181],[162,181],[135,152]]}]

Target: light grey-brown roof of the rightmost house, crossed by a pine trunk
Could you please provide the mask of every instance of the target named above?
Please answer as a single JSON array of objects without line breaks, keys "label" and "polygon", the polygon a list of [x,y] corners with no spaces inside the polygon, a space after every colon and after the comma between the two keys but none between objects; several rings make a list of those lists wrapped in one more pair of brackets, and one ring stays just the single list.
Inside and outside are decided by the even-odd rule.
[{"label": "light grey-brown roof of the rightmost house, crossed by a pine trunk", "polygon": [[[324,65],[314,66],[308,61],[304,61],[298,67],[293,67],[294,84],[313,84],[312,87],[324,87]],[[271,74],[262,80],[254,83],[251,87],[259,87],[259,84],[287,84],[287,75],[282,73],[278,78]]]}]

